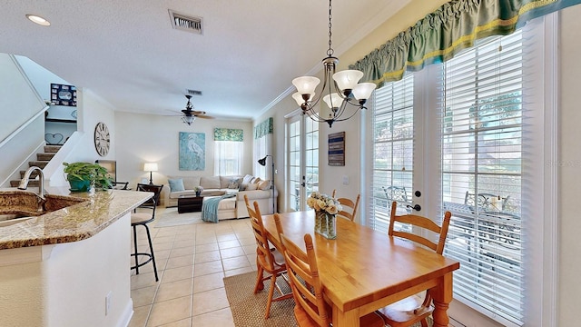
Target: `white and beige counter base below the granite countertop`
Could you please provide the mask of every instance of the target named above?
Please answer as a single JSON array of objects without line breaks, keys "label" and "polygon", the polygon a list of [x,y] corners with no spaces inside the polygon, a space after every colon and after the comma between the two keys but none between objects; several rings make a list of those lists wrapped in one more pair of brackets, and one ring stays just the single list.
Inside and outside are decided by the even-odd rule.
[{"label": "white and beige counter base below the granite countertop", "polygon": [[2,250],[0,325],[127,325],[133,312],[130,220],[126,213],[83,241]]}]

